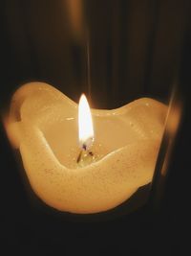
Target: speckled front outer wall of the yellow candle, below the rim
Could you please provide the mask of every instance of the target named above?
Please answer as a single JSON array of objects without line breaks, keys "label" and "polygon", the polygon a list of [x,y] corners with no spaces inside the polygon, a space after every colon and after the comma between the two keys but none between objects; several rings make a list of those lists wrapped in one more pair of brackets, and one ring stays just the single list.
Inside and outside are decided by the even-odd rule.
[{"label": "speckled front outer wall of the yellow candle, below the rim", "polygon": [[152,179],[156,142],[141,141],[91,166],[69,170],[45,147],[43,135],[37,130],[32,133],[20,146],[25,170],[36,194],[61,211],[90,213],[113,208]]}]

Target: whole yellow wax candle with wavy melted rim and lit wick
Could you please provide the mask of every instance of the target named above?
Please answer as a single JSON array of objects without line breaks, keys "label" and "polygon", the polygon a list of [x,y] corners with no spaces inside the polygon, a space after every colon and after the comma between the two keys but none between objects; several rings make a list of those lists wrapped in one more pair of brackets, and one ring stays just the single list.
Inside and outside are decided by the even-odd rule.
[{"label": "whole yellow wax candle with wavy melted rim and lit wick", "polygon": [[[32,190],[46,204],[80,214],[106,211],[151,182],[166,105],[142,98],[113,110],[92,109],[92,119],[77,110],[53,86],[31,82],[13,95],[6,130]],[[94,129],[86,136],[80,130],[87,119]],[[84,143],[95,158],[81,164]]]}]

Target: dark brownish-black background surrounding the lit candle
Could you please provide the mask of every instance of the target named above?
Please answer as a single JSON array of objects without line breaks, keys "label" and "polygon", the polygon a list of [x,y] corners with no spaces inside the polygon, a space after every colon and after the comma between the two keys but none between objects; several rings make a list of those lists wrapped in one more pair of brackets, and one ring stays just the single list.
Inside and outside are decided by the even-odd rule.
[{"label": "dark brownish-black background surrounding the lit candle", "polygon": [[47,81],[74,101],[83,91],[92,105],[110,108],[142,96],[168,103],[176,83],[184,110],[164,197],[157,212],[149,201],[108,221],[60,219],[33,209],[1,124],[1,255],[186,255],[190,1],[76,1],[83,3],[82,16],[69,2],[1,1],[2,113],[27,81]]}]

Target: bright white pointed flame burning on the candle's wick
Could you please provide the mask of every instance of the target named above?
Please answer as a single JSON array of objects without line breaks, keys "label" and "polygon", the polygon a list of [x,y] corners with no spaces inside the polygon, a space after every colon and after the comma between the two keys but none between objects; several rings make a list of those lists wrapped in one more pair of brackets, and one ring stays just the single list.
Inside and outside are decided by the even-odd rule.
[{"label": "bright white pointed flame burning on the candle's wick", "polygon": [[80,147],[84,150],[89,150],[94,142],[94,129],[90,106],[84,94],[79,100],[78,132]]}]

